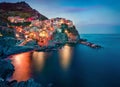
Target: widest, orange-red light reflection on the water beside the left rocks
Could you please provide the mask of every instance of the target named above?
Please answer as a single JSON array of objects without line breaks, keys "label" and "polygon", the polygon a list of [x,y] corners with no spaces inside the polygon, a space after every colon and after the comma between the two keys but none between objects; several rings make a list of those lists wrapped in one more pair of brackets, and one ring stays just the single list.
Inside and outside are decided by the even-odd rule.
[{"label": "widest, orange-red light reflection on the water beside the left rocks", "polygon": [[12,80],[26,81],[31,77],[31,52],[14,55],[11,60],[15,67]]}]

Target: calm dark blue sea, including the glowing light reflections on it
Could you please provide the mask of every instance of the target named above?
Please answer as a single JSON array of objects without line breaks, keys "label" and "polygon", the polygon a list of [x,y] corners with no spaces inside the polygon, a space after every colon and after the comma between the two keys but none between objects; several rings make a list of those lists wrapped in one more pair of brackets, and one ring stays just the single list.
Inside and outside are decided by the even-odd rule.
[{"label": "calm dark blue sea, including the glowing light reflections on it", "polygon": [[44,87],[120,87],[120,35],[81,37],[103,48],[66,45],[59,51],[15,55],[11,58],[15,66],[12,79],[33,78]]}]

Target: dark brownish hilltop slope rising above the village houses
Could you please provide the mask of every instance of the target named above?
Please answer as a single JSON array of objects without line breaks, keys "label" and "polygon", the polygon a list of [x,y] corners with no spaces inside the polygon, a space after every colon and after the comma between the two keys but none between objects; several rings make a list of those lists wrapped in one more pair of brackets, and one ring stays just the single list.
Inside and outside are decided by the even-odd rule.
[{"label": "dark brownish hilltop slope rising above the village houses", "polygon": [[37,10],[32,9],[26,2],[0,3],[0,19],[7,22],[9,16],[20,16],[21,18],[34,17],[40,20],[48,19]]}]

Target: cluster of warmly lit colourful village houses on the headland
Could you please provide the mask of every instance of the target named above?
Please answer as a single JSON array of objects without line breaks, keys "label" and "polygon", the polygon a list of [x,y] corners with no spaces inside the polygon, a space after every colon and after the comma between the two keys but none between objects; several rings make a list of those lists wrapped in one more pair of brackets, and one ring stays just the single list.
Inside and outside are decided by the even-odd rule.
[{"label": "cluster of warmly lit colourful village houses on the headland", "polygon": [[[8,21],[14,25],[8,25],[16,31],[17,39],[24,39],[20,44],[25,45],[31,40],[37,41],[39,46],[47,46],[50,40],[53,40],[54,33],[63,33],[67,36],[68,42],[76,42],[78,38],[70,29],[74,28],[73,22],[65,18],[52,18],[48,20],[39,20],[37,17],[21,18],[19,16],[10,16]],[[17,23],[30,23],[28,26],[15,25]],[[74,30],[73,30],[74,31]]]}]

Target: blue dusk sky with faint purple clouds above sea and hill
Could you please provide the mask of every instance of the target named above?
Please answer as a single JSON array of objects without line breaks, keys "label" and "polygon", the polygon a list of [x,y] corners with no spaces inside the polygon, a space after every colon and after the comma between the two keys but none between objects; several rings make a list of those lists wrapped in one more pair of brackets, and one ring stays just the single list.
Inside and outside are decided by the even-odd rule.
[{"label": "blue dusk sky with faint purple clouds above sea and hill", "polygon": [[79,33],[120,34],[120,0],[0,0],[26,1],[48,18],[63,17],[75,24]]}]

